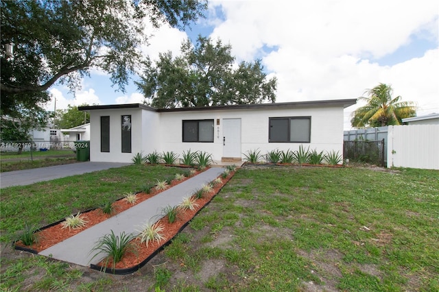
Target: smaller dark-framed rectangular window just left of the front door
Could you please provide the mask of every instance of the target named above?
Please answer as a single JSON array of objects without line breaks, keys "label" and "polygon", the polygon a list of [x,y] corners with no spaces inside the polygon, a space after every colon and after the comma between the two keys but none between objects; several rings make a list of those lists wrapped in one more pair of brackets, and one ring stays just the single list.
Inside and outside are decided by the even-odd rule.
[{"label": "smaller dark-framed rectangular window just left of the front door", "polygon": [[213,119],[182,121],[183,142],[213,142]]}]

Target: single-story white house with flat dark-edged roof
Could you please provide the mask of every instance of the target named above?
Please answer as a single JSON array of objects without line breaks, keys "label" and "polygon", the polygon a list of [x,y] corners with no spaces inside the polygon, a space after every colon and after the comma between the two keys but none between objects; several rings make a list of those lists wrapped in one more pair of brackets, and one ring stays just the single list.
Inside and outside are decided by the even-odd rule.
[{"label": "single-story white house with flat dark-edged roof", "polygon": [[343,153],[343,110],[356,99],[273,104],[152,108],[144,104],[80,106],[90,112],[90,159],[132,162],[137,153],[206,151],[241,160],[248,151],[296,151],[300,145]]}]

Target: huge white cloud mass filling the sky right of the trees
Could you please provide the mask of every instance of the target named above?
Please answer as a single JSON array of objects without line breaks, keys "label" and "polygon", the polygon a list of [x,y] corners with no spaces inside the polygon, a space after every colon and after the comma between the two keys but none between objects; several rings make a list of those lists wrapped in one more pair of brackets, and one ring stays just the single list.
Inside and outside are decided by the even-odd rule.
[{"label": "huge white cloud mass filling the sky right of the trees", "polygon": [[[418,115],[439,112],[438,49],[394,66],[377,60],[418,38],[438,40],[437,1],[215,1],[225,20],[211,37],[230,42],[238,60],[263,56],[278,78],[277,101],[351,99],[379,82],[418,102]],[[218,21],[218,19],[215,19]],[[345,127],[349,114],[345,111]],[[429,108],[429,110],[423,110]],[[436,109],[434,109],[436,108]]]}]

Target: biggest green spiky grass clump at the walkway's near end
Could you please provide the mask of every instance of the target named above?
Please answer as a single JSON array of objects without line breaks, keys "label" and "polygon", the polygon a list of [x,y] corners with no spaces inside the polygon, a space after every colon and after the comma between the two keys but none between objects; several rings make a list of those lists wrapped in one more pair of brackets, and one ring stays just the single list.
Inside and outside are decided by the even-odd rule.
[{"label": "biggest green spiky grass clump at the walkway's near end", "polygon": [[133,234],[122,232],[119,235],[115,235],[115,232],[110,231],[110,234],[100,237],[91,250],[91,252],[95,252],[91,260],[101,253],[105,254],[104,269],[110,260],[112,261],[112,269],[115,269],[116,264],[121,261],[126,253],[137,252],[136,247],[131,243],[132,239],[135,238]]}]

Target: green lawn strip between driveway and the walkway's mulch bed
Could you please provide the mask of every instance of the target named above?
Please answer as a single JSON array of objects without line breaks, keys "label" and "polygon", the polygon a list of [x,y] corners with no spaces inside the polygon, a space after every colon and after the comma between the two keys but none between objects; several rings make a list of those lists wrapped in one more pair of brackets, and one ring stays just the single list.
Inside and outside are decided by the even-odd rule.
[{"label": "green lawn strip between driveway and the walkway's mulch bed", "polygon": [[1,241],[12,241],[25,223],[43,227],[71,214],[98,208],[173,175],[173,167],[129,165],[29,186],[1,189]]}]

